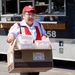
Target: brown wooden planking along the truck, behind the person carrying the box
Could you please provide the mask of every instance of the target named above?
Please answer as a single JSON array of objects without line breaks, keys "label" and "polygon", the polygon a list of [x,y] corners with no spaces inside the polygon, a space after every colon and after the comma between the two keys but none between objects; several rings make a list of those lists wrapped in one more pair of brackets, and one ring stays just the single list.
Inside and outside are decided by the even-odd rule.
[{"label": "brown wooden planking along the truck, behind the person carrying the box", "polygon": [[[14,23],[0,23],[0,28],[10,28]],[[65,23],[57,23],[57,24],[51,24],[51,23],[42,23],[45,29],[66,29]]]}]

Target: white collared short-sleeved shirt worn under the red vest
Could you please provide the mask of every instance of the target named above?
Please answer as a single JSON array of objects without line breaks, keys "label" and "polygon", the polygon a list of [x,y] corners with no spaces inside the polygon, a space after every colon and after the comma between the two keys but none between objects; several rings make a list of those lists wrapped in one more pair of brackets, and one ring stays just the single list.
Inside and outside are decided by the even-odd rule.
[{"label": "white collared short-sleeved shirt worn under the red vest", "polygon": [[[30,27],[28,26],[24,20],[22,20],[21,22],[19,22],[21,26],[27,26],[29,31],[31,32],[31,34],[33,35],[33,39],[36,39],[36,29],[35,26],[38,26],[39,23],[38,22],[34,22],[33,25]],[[44,29],[44,27],[41,25],[41,31],[42,31],[42,36],[47,36],[46,31]],[[18,25],[18,23],[15,23],[10,29],[9,29],[9,33],[8,35],[13,34],[15,36],[15,38],[17,38],[17,36],[20,34],[20,26]]]}]

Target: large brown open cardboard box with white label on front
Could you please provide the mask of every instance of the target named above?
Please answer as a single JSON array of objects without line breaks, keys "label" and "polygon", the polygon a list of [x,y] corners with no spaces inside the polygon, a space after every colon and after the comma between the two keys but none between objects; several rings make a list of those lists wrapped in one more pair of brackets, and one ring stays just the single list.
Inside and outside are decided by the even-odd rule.
[{"label": "large brown open cardboard box with white label on front", "polygon": [[15,50],[15,42],[9,46],[7,64],[9,73],[45,72],[52,69],[52,49]]}]

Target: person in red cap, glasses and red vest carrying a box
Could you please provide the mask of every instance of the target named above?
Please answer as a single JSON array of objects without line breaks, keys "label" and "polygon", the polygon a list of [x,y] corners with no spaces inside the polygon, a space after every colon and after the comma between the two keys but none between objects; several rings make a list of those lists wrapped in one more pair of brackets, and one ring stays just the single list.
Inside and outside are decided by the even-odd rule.
[{"label": "person in red cap, glasses and red vest carrying a box", "polygon": [[[9,30],[6,41],[12,43],[19,34],[32,35],[35,40],[41,40],[46,38],[46,31],[43,26],[35,22],[36,10],[32,6],[25,6],[22,10],[23,20],[19,23],[15,23]],[[25,75],[26,73],[21,73]],[[27,73],[27,75],[39,75],[39,72]]]}]

